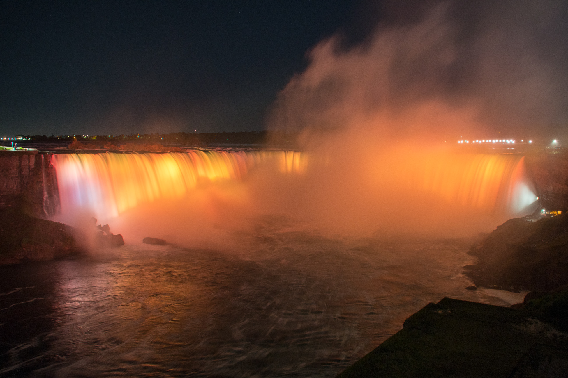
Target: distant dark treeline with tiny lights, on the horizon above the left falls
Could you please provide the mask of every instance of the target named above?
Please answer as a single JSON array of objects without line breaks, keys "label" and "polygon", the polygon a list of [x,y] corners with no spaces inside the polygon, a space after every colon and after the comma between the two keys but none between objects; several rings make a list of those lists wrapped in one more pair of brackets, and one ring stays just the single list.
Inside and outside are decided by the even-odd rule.
[{"label": "distant dark treeline with tiny lights, on the horizon above the left falls", "polygon": [[120,134],[120,135],[25,135],[22,139],[27,141],[62,141],[88,142],[94,145],[112,143],[179,143],[184,146],[209,145],[215,143],[228,143],[239,145],[293,145],[297,133],[286,131],[239,131],[236,133],[170,133],[170,134]]}]

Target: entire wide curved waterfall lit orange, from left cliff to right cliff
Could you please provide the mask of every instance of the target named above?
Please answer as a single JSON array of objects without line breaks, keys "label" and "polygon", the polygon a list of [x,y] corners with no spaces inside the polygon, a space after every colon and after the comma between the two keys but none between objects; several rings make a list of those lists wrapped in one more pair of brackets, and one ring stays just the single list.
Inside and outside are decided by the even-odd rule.
[{"label": "entire wide curved waterfall lit orange, from left cliff to right cliff", "polygon": [[[259,186],[263,180],[265,184],[260,184],[261,189],[256,188],[257,193],[278,197],[287,190],[288,197],[296,202],[296,210],[291,211],[303,210],[303,205],[297,203],[321,202],[311,210],[312,218],[335,217],[335,223],[349,222],[349,218],[342,218],[344,209],[362,209],[358,218],[364,211],[378,214],[414,209],[411,211],[415,213],[420,210],[431,213],[438,207],[444,208],[440,210],[443,216],[448,209],[455,209],[510,217],[518,216],[536,201],[531,180],[525,177],[524,158],[520,155],[389,156],[374,162],[355,160],[347,169],[334,166],[340,165],[339,159],[340,154],[326,159],[311,156],[308,160],[306,152],[294,151],[189,151],[59,154],[54,156],[53,162],[62,214],[87,209],[102,219],[116,217],[144,203],[191,197],[193,190],[203,185],[246,184],[249,173],[260,167],[265,167],[264,176],[254,185]],[[270,172],[280,175],[279,184],[272,189],[266,185],[275,177]],[[374,176],[369,172],[374,172]],[[287,187],[290,179],[286,177],[303,180],[301,189],[297,185]],[[235,196],[233,198],[237,198]],[[198,201],[197,196],[193,198]],[[260,207],[254,200],[252,198],[247,206]],[[270,206],[277,202],[271,202]],[[326,207],[333,208],[335,213],[327,215]]]}]

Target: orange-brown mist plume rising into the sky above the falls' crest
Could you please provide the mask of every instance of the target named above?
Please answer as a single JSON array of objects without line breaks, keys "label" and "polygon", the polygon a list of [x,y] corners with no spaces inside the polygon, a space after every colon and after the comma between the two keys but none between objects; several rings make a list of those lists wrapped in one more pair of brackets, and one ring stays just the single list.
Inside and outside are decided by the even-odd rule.
[{"label": "orange-brown mist plume rising into the sky above the falls' crest", "polygon": [[[559,1],[437,2],[406,19],[394,12],[398,18],[356,46],[344,48],[338,33],[308,53],[310,65],[279,94],[269,127],[366,124],[440,138],[549,132],[568,120],[566,11]],[[440,122],[439,107],[462,113],[462,121]],[[420,121],[385,124],[408,112],[421,112]]]}]

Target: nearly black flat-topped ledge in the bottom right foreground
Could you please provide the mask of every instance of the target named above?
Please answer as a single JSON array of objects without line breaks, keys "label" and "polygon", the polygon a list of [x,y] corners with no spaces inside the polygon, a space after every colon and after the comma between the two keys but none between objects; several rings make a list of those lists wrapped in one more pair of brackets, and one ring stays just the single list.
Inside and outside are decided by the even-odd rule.
[{"label": "nearly black flat-topped ledge in the bottom right foreground", "polygon": [[566,376],[566,334],[541,313],[444,298],[337,378]]}]

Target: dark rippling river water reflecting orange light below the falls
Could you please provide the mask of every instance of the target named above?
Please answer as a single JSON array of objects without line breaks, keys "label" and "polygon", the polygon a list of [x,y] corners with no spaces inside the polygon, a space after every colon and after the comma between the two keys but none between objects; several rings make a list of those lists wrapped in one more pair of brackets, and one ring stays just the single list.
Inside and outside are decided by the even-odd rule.
[{"label": "dark rippling river water reflecting orange light below the falls", "polygon": [[465,290],[465,240],[267,218],[235,241],[0,267],[0,376],[333,377],[429,301],[510,305]]}]

